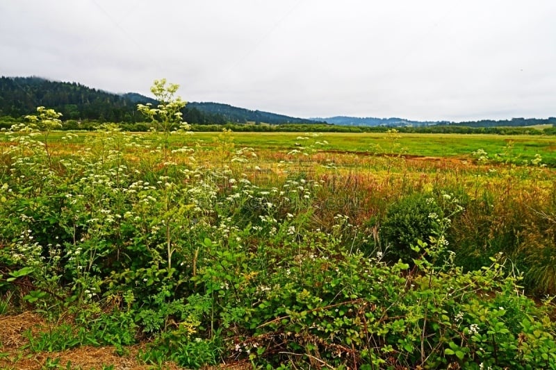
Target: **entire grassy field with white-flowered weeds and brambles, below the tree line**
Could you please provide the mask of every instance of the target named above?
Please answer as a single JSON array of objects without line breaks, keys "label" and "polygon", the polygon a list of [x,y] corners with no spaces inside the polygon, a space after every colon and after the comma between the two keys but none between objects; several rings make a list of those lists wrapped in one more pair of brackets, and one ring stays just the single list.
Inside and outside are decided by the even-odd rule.
[{"label": "entire grassy field with white-flowered weeds and brambles, below the tree line", "polygon": [[45,137],[1,137],[3,369],[556,367],[553,137]]}]

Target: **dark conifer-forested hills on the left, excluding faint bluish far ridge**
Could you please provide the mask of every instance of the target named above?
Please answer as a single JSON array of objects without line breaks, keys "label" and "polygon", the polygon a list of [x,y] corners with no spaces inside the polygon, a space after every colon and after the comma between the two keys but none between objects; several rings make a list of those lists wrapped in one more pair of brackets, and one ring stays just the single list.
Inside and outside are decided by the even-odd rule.
[{"label": "dark conifer-forested hills on the left, excluding faint bluish far ridge", "polygon": [[[0,77],[0,117],[14,119],[31,115],[36,107],[53,108],[63,119],[99,122],[139,122],[145,118],[137,111],[138,103],[156,101],[129,92],[113,94],[80,83],[49,81],[39,77]],[[188,103],[183,120],[190,124],[227,124],[247,122],[267,124],[313,124],[315,121],[248,110],[220,103]]]}]

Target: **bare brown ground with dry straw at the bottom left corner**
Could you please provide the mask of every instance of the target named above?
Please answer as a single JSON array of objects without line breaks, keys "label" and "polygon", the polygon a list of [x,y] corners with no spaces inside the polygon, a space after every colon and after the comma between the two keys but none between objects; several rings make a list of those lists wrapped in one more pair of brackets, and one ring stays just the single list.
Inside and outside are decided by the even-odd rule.
[{"label": "bare brown ground with dry straw at the bottom left corner", "polygon": [[[28,339],[24,335],[27,330],[37,334],[44,332],[47,328],[47,322],[33,312],[24,312],[17,315],[0,315],[0,369],[51,369],[51,367],[45,366],[47,365],[47,360],[57,360],[58,367],[54,369],[101,370],[103,366],[110,365],[113,366],[114,370],[147,370],[158,368],[142,364],[137,360],[138,351],[140,348],[144,348],[144,344],[126,347],[129,353],[124,356],[117,355],[113,346],[81,346],[66,351],[40,353],[33,353],[28,349],[22,348],[22,346],[28,344]],[[70,367],[67,367],[68,362],[71,362]],[[163,364],[163,369],[183,370],[184,368],[167,362]],[[251,369],[251,366],[243,362],[206,368],[206,370],[215,369],[244,370]]]}]

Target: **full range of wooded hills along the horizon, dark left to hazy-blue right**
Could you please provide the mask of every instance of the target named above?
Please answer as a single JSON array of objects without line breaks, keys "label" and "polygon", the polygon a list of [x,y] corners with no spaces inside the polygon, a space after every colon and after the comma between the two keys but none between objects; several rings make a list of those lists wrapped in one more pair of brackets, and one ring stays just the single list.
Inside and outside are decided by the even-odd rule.
[{"label": "full range of wooded hills along the horizon, dark left to hazy-blue right", "polygon": [[[156,100],[138,94],[126,92],[115,94],[81,85],[50,81],[40,77],[0,77],[0,117],[21,119],[35,113],[36,107],[45,106],[63,114],[64,120],[110,121],[138,123],[145,120],[138,111],[138,103],[152,103]],[[506,120],[484,119],[480,121],[414,121],[398,117],[347,117],[298,118],[279,115],[272,112],[238,108],[224,103],[190,102],[183,109],[183,120],[190,124],[332,124],[336,126],[535,126],[542,124],[556,125],[555,117],[547,119],[512,118]]]}]

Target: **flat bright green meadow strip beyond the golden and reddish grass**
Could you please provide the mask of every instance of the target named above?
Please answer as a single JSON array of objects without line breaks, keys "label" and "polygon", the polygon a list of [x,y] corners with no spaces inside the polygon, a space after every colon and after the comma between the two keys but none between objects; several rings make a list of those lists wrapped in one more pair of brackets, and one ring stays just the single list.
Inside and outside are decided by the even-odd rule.
[{"label": "flat bright green meadow strip beyond the golden and reddish grass", "polygon": [[[65,133],[52,133],[53,143],[63,142]],[[95,133],[78,133],[76,142]],[[138,137],[149,137],[147,133],[136,133]],[[172,145],[201,145],[210,149],[215,146],[221,133],[193,133],[172,136]],[[6,140],[1,137],[0,140]],[[362,155],[410,155],[436,158],[473,158],[473,152],[484,150],[489,160],[521,163],[531,160],[536,154],[551,167],[556,166],[556,137],[539,135],[489,135],[489,134],[416,134],[404,133],[395,136],[386,133],[232,133],[229,138],[237,149],[251,147],[258,151],[343,152]],[[320,143],[320,144],[319,144]],[[306,149],[303,149],[306,148]]]}]

